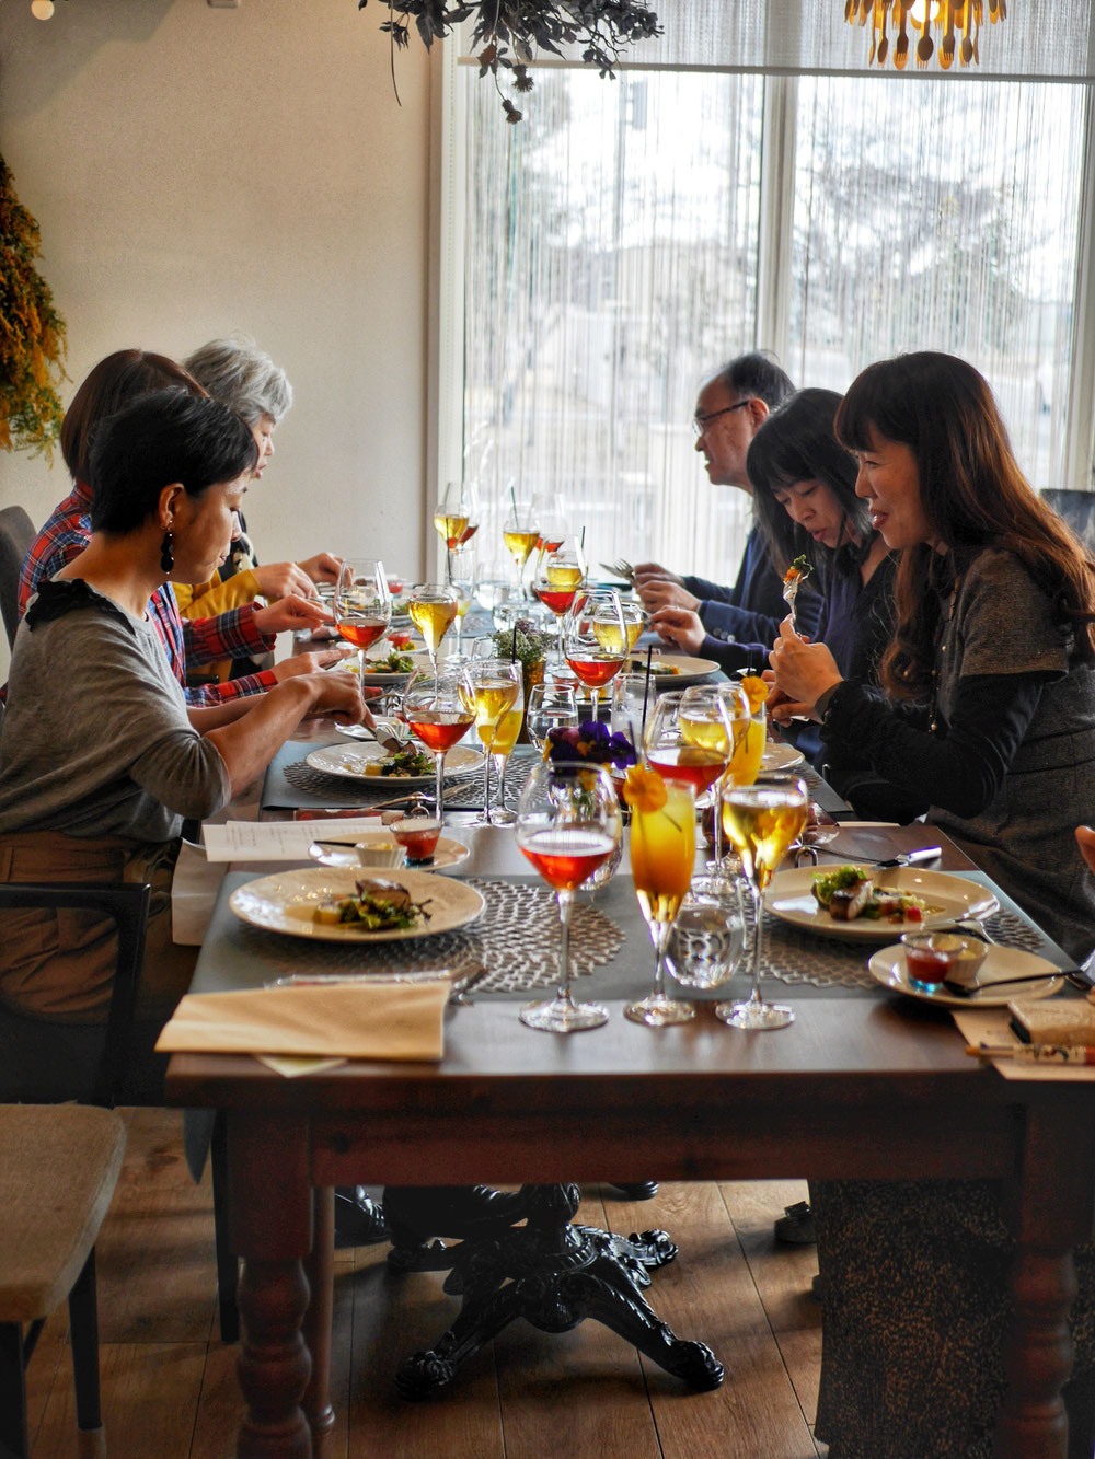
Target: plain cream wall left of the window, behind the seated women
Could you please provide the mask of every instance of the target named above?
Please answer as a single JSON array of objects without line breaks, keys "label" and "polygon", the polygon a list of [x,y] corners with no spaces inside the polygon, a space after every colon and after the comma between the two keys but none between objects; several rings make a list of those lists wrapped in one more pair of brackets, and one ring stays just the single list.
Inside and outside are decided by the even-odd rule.
[{"label": "plain cream wall left of the window, behind the seated women", "polygon": [[[429,66],[356,0],[0,3],[0,152],[69,324],[63,400],[104,355],[245,331],[296,403],[248,496],[260,556],[425,568]],[[67,492],[0,452],[0,506]],[[426,531],[429,524],[426,524]],[[0,635],[3,641],[3,635]],[[6,643],[0,642],[0,677]]]}]

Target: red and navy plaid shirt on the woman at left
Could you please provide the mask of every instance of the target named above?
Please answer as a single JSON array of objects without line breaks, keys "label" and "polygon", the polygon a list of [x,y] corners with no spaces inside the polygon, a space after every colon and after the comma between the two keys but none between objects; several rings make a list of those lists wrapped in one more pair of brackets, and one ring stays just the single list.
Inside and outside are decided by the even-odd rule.
[{"label": "red and navy plaid shirt on the woman at left", "polygon": [[[91,538],[91,489],[77,481],[70,496],[50,516],[38,533],[19,575],[19,614],[26,611],[32,594],[42,578],[53,578],[77,557]],[[149,598],[149,617],[168,655],[171,671],[182,684],[187,703],[194,706],[222,705],[242,694],[260,694],[277,680],[272,673],[231,678],[226,684],[201,684],[187,689],[187,664],[213,664],[222,658],[267,654],[274,641],[254,624],[254,604],[232,608],[215,619],[180,617],[175,594],[164,584]]]}]

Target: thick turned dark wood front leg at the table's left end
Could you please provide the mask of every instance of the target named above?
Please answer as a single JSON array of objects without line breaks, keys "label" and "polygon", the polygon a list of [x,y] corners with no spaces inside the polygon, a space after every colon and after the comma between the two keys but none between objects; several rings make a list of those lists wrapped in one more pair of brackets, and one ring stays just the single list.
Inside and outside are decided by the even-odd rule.
[{"label": "thick turned dark wood front leg at the table's left end", "polygon": [[238,1376],[247,1402],[239,1459],[311,1459],[301,1406],[311,1360],[302,1259],[312,1245],[308,1125],[304,1118],[228,1116],[231,1239],[244,1259]]}]

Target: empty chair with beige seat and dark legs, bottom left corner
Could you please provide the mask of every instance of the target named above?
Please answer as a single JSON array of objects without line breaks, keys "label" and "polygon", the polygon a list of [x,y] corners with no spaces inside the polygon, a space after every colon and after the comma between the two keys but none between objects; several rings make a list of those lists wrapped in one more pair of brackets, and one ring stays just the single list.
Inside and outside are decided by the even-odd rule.
[{"label": "empty chair with beige seat and dark legs, bottom left corner", "polygon": [[[82,1459],[107,1453],[99,1411],[95,1242],[126,1150],[114,1110],[0,1104],[0,1453],[26,1459],[25,1369],[69,1299]],[[23,1325],[28,1331],[23,1334]]]}]

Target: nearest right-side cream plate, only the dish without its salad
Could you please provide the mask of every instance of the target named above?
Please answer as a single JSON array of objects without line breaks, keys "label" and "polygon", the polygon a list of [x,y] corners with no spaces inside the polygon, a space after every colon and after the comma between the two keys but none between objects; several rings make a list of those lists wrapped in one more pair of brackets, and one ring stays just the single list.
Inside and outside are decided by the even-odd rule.
[{"label": "nearest right-side cream plate, only the dish without its salad", "polygon": [[[850,861],[848,865],[856,862]],[[807,932],[819,932],[822,937],[853,937],[863,943],[891,943],[902,932],[946,926],[961,918],[988,916],[999,909],[991,891],[986,891],[975,881],[952,877],[945,871],[920,871],[917,867],[892,867],[889,871],[864,867],[864,871],[872,875],[875,886],[886,891],[908,891],[940,910],[924,913],[918,922],[870,922],[866,918],[837,922],[815,900],[813,878],[818,872],[813,867],[777,871],[764,894],[764,905],[781,922],[806,928]]]}]

